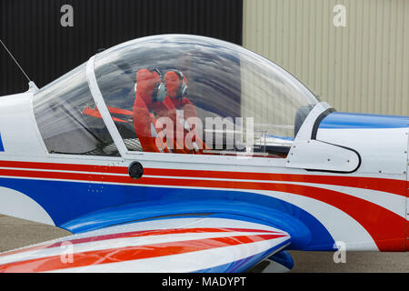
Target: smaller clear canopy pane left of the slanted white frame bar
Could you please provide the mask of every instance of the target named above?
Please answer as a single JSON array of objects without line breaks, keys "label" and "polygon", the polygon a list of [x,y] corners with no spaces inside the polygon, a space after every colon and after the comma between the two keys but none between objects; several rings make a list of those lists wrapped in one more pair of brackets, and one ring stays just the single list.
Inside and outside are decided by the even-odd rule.
[{"label": "smaller clear canopy pane left of the slanted white frame bar", "polygon": [[118,156],[118,150],[95,108],[85,64],[41,88],[34,96],[35,119],[51,154]]}]

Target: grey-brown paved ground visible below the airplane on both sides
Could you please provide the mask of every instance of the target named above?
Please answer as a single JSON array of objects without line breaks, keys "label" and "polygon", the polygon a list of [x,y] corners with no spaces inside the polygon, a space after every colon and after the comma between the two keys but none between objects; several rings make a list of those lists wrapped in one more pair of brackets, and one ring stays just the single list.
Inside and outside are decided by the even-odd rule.
[{"label": "grey-brown paved ground visible below the airplane on both sides", "polygon": [[[61,236],[69,232],[54,226],[0,215],[0,252],[28,246]],[[293,273],[409,273],[407,253],[348,252],[346,263],[335,264],[332,252],[290,252],[294,258]]]}]

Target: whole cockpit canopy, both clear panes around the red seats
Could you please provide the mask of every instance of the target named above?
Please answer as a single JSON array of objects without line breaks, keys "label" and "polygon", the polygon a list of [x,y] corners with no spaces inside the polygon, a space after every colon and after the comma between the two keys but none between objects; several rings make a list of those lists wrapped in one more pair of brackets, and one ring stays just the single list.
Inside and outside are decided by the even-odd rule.
[{"label": "whole cockpit canopy, both clear panes around the red seats", "polygon": [[[40,89],[35,118],[50,153],[285,157],[318,100],[260,55],[213,38],[155,35],[105,50]],[[106,118],[115,128],[110,128]],[[121,140],[112,135],[115,130]],[[114,136],[114,137],[113,137]]]}]

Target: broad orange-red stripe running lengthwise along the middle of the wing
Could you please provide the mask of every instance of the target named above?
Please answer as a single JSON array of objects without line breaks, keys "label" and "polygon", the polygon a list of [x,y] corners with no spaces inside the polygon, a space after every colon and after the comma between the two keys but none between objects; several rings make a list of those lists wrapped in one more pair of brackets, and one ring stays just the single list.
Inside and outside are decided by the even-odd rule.
[{"label": "broad orange-red stripe running lengthwise along the middle of the wing", "polygon": [[224,246],[238,246],[270,240],[284,235],[232,236],[195,239],[145,246],[126,246],[73,254],[73,262],[63,262],[61,256],[48,256],[0,265],[0,272],[46,272],[79,266],[95,266],[130,260],[171,256]]}]

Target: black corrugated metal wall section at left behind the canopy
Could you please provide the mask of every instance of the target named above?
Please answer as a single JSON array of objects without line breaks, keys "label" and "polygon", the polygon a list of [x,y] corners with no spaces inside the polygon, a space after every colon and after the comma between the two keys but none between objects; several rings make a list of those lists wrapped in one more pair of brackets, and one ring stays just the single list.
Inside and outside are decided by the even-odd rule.
[{"label": "black corrugated metal wall section at left behind the canopy", "polygon": [[[74,8],[74,27],[60,24]],[[0,0],[0,38],[39,87],[97,49],[145,35],[206,35],[242,44],[242,0]],[[28,89],[0,46],[0,95]]]}]

